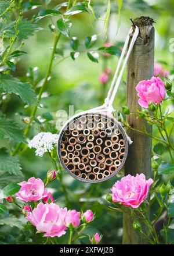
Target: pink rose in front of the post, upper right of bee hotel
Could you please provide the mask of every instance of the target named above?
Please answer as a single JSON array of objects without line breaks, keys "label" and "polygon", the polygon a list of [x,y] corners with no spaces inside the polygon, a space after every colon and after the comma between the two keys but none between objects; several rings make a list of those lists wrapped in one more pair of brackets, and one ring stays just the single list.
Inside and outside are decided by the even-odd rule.
[{"label": "pink rose in front of the post, upper right of bee hotel", "polygon": [[152,77],[150,80],[142,80],[136,86],[137,95],[140,97],[139,104],[148,108],[150,102],[160,104],[165,98],[166,89],[160,77]]}]

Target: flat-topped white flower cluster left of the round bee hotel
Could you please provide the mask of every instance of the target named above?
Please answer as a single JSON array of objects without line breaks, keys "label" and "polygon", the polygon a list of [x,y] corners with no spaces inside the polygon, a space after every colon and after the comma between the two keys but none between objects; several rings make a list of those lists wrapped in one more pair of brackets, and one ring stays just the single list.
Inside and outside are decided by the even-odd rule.
[{"label": "flat-topped white flower cluster left of the round bee hotel", "polygon": [[38,133],[36,136],[29,141],[29,148],[36,148],[35,154],[42,157],[45,152],[50,152],[54,148],[54,144],[58,140],[57,134],[52,133]]}]

